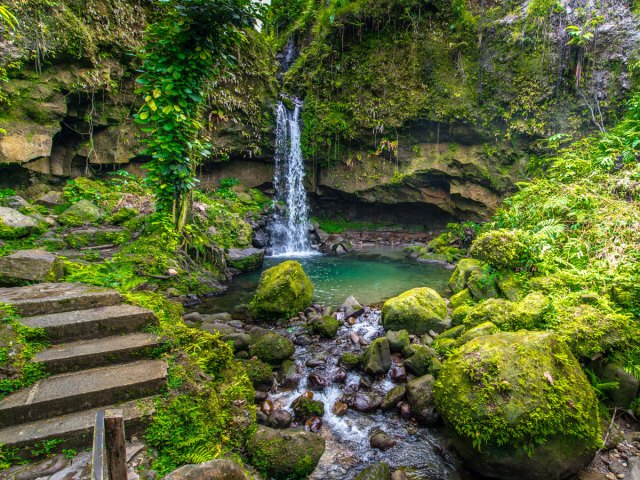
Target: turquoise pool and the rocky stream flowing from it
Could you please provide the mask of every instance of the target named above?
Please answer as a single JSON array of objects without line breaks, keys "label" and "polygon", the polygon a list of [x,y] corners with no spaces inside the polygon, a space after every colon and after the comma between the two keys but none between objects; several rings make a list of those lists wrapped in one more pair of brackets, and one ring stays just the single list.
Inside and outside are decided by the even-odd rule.
[{"label": "turquoise pool and the rocky stream flowing from it", "polygon": [[[268,258],[264,268],[284,260]],[[444,294],[451,275],[451,270],[444,265],[420,264],[405,258],[399,248],[368,249],[340,257],[305,255],[296,260],[303,265],[315,286],[315,305],[325,308],[339,307],[349,295],[363,305],[379,304],[421,286]],[[225,295],[205,300],[198,310],[203,314],[233,314],[238,305],[250,301],[259,276],[260,272],[253,272],[236,277]],[[245,328],[250,326],[246,324]],[[360,370],[351,370],[346,372],[345,378],[345,370],[339,364],[344,352],[362,353],[368,343],[384,335],[378,309],[365,307],[365,313],[355,323],[343,322],[336,337],[329,340],[311,337],[304,321],[287,322],[273,330],[294,341],[293,360],[299,380],[297,386],[290,388],[280,387],[277,381],[274,383],[268,397],[274,408],[293,413],[292,402],[308,391],[313,391],[314,400],[321,400],[325,405],[323,425],[318,433],[325,438],[327,448],[310,478],[348,480],[365,466],[381,461],[392,467],[405,468],[413,479],[472,478],[456,468],[455,457],[444,447],[447,442],[442,427],[419,426],[401,418],[397,409],[389,412],[375,409],[365,413],[349,408],[344,416],[333,413],[334,404],[345,394],[361,393],[371,398],[383,398],[395,386],[389,374],[372,378]],[[354,334],[361,339],[359,343],[353,341]],[[401,358],[394,355],[393,362],[399,363]],[[310,382],[312,374],[316,379],[318,376],[324,379],[326,386],[314,384],[313,380]],[[342,379],[336,380],[341,375]],[[369,439],[378,431],[392,437],[396,445],[384,452],[371,448]]]}]

